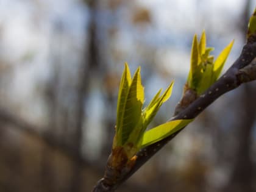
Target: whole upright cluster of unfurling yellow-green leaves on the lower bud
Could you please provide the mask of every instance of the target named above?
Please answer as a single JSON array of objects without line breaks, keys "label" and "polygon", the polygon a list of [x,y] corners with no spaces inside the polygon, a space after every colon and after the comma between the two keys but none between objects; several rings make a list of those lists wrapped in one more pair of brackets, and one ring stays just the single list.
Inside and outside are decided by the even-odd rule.
[{"label": "whole upright cluster of unfurling yellow-green leaves on the lower bud", "polygon": [[[158,91],[152,101],[149,102],[148,107],[142,110],[144,88],[141,85],[140,68],[137,69],[131,79],[129,67],[127,64],[125,65],[118,93],[116,134],[113,139],[113,151],[122,149],[126,158],[130,159],[141,149],[144,132],[161,105],[171,96],[172,86],[173,82],[171,82],[162,95],[162,89]],[[168,129],[176,130],[177,126],[173,126],[176,126],[176,124],[168,124]],[[167,130],[165,126],[163,127],[164,130]],[[159,140],[168,137],[168,133],[165,132],[165,135],[160,134],[159,137]],[[154,140],[157,140],[157,138],[155,137]],[[115,162],[116,165],[120,163],[118,162],[120,158],[115,157],[113,159],[117,161]]]}]

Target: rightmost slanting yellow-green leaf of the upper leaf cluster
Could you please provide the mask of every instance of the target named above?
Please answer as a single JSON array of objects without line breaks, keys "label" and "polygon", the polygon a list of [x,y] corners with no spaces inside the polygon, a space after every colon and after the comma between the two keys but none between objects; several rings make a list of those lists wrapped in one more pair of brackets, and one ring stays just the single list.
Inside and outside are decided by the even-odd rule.
[{"label": "rightmost slanting yellow-green leaf of the upper leaf cluster", "polygon": [[221,70],[224,66],[224,63],[226,62],[227,57],[229,56],[229,52],[232,49],[234,40],[232,40],[226,48],[224,48],[219,54],[218,58],[216,59],[214,65],[213,65],[213,82],[215,82],[219,75],[221,74]]}]

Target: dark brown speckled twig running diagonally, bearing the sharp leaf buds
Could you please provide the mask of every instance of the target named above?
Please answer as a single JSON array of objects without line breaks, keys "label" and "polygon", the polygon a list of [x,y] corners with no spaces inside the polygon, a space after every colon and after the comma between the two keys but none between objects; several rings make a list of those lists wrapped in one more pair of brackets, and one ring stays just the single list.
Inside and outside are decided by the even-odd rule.
[{"label": "dark brown speckled twig running diagonally, bearing the sharp leaf buds", "polygon": [[[169,121],[175,119],[193,119],[196,118],[201,112],[218,99],[222,94],[227,93],[241,84],[250,82],[256,79],[256,35],[252,35],[247,44],[244,45],[243,51],[240,57],[233,63],[233,65],[227,70],[227,72],[219,78],[205,93],[203,93],[195,101],[191,102],[187,108],[184,108],[176,116],[172,117]],[[184,127],[185,128],[185,127]],[[180,132],[180,131],[179,131]],[[146,163],[155,153],[165,146],[172,138],[174,138],[176,132],[169,137],[151,144],[150,146],[142,149],[138,152],[137,160],[132,168],[125,172],[119,173],[117,176],[115,170],[113,171],[111,166],[107,166],[105,169],[104,177],[94,187],[94,192],[102,191],[115,191],[115,189],[124,181],[126,181],[132,174],[137,171],[144,163]],[[111,154],[110,154],[111,155]],[[118,178],[118,179],[116,179]]]}]

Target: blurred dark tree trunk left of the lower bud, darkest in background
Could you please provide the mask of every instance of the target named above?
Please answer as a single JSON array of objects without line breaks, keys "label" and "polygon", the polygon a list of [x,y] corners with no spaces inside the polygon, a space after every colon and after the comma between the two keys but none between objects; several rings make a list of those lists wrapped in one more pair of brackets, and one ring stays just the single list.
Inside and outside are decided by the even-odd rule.
[{"label": "blurred dark tree trunk left of the lower bud, darkest in background", "polygon": [[83,125],[85,119],[85,100],[88,94],[88,88],[91,84],[91,73],[93,70],[96,70],[99,67],[99,50],[98,50],[98,41],[97,41],[97,28],[96,28],[96,11],[97,1],[91,1],[90,10],[91,10],[91,20],[88,28],[88,44],[85,43],[84,50],[87,51],[84,55],[87,57],[84,58],[84,62],[80,66],[79,70],[79,81],[77,88],[77,104],[76,104],[76,120],[75,120],[75,133],[73,138],[73,148],[76,153],[76,162],[74,162],[73,167],[73,176],[71,178],[71,190],[74,192],[81,191],[81,168],[82,162],[81,151],[83,143]]}]

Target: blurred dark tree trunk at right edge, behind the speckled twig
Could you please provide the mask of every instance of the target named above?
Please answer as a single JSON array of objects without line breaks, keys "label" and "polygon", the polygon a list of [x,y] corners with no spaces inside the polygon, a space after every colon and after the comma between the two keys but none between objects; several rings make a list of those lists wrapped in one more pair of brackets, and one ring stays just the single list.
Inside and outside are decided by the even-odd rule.
[{"label": "blurred dark tree trunk at right edge, behind the speckled twig", "polygon": [[[246,37],[247,23],[249,21],[250,0],[245,2],[244,11],[241,15],[240,30],[243,37]],[[243,85],[242,98],[240,100],[237,119],[239,119],[236,128],[237,147],[235,148],[235,158],[233,162],[233,171],[229,183],[224,187],[224,191],[245,191],[253,192],[254,182],[254,165],[251,160],[251,135],[255,123],[256,105],[255,94],[256,87],[254,84]]]}]

